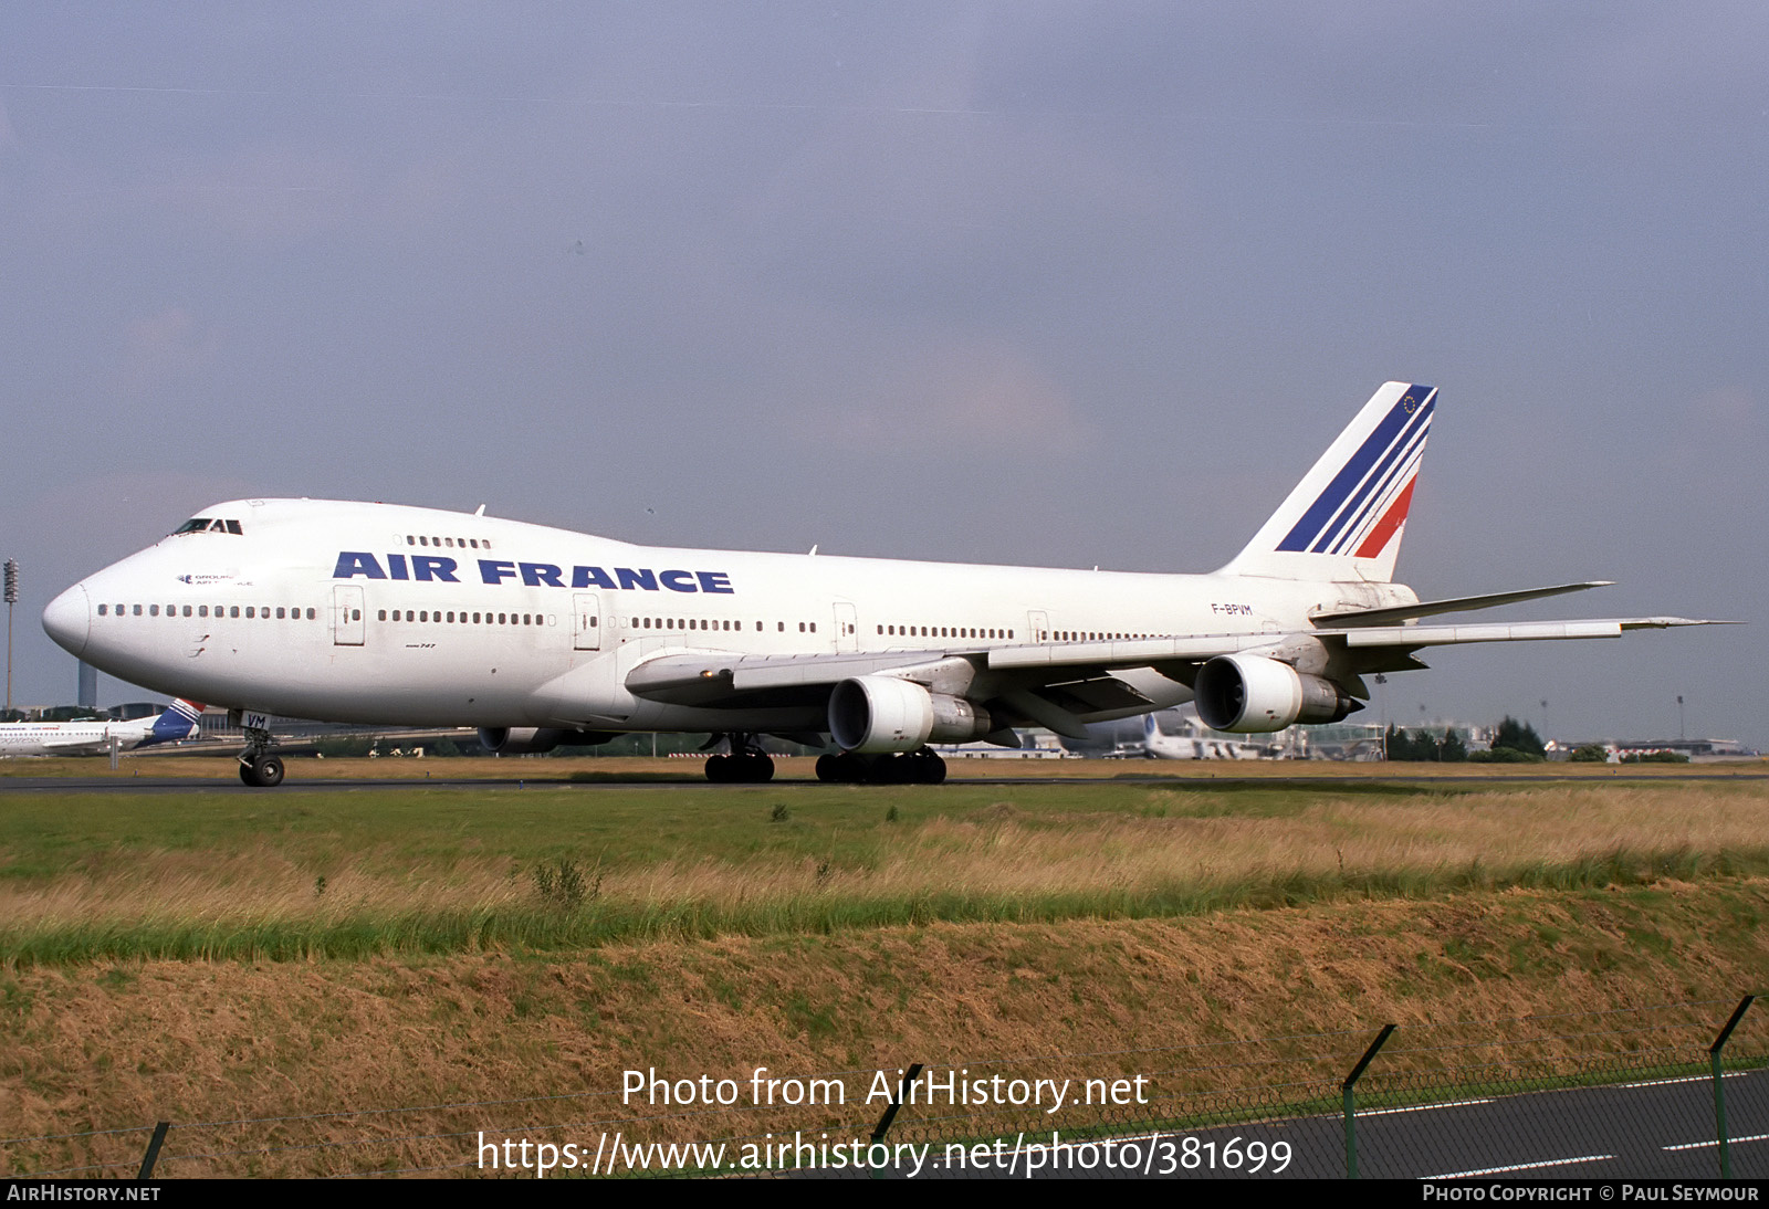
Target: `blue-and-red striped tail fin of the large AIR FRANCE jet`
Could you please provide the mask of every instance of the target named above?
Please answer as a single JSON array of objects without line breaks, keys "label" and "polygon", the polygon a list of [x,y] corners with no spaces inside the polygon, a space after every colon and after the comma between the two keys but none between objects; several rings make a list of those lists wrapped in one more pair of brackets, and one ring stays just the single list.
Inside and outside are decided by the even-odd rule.
[{"label": "blue-and-red striped tail fin of the large AIR FRANCE jet", "polygon": [[1433,410],[1435,387],[1383,384],[1222,573],[1392,580]]}]

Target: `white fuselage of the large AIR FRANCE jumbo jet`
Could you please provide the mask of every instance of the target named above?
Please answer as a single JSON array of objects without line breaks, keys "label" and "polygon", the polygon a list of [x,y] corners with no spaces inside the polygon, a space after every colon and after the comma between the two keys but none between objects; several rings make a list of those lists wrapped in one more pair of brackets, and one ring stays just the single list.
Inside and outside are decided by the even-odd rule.
[{"label": "white fuselage of the large AIR FRANCE jumbo jet", "polygon": [[[628,693],[626,675],[702,650],[1277,636],[1309,629],[1311,612],[1415,599],[1390,583],[649,548],[389,504],[242,500],[207,514],[228,523],[88,576],[44,626],[133,684],[327,721],[817,730],[801,705],[670,705]],[[1145,679],[1155,707],[1191,698]]]}]

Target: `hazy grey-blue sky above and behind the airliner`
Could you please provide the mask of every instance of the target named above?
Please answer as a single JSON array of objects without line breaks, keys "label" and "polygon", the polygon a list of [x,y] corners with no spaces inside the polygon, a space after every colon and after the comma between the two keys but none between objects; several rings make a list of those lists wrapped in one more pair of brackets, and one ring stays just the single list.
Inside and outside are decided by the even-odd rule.
[{"label": "hazy grey-blue sky above and behind the airliner", "polygon": [[7,5],[14,698],[219,498],[1205,571],[1410,378],[1421,594],[1753,626],[1387,712],[1769,744],[1765,60],[1760,4]]}]

